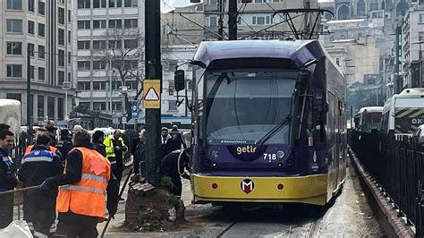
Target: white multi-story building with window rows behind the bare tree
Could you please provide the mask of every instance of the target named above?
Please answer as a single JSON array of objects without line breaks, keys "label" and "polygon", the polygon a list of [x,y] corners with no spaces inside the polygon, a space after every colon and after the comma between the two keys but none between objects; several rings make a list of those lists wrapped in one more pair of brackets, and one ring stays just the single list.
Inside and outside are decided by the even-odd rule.
[{"label": "white multi-story building with window rows behind the bare tree", "polygon": [[144,1],[72,3],[78,108],[113,115],[119,123],[137,104],[144,78]]}]

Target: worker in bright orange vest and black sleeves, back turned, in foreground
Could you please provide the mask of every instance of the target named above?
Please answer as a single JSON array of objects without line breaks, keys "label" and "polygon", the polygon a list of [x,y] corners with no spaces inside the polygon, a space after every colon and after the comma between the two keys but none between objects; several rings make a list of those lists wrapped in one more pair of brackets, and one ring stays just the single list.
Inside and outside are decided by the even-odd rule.
[{"label": "worker in bright orange vest and black sleeves, back turned, in foreground", "polygon": [[[64,174],[47,178],[41,187],[59,187],[56,200],[59,224],[55,235],[97,237],[98,222],[106,208],[114,217],[118,206],[118,184],[110,162],[94,149],[89,133],[76,132]],[[106,205],[107,194],[107,205]]]}]

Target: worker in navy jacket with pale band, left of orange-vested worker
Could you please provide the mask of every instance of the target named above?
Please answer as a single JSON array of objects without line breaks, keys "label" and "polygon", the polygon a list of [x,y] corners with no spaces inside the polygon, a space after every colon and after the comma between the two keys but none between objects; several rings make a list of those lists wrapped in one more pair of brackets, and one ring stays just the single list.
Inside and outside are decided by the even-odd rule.
[{"label": "worker in navy jacket with pale band, left of orange-vested worker", "polygon": [[[30,154],[21,160],[18,178],[23,187],[37,186],[48,177],[64,173],[61,158],[50,152],[50,137],[46,134],[37,138]],[[28,191],[23,196],[23,219],[36,237],[55,233],[57,189]]]}]

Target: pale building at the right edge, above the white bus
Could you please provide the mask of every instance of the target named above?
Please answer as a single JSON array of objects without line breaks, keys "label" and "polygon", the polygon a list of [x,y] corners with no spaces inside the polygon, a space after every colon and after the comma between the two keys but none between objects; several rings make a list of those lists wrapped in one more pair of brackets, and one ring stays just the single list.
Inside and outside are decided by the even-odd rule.
[{"label": "pale building at the right edge, above the white bus", "polygon": [[402,23],[403,88],[423,87],[424,5],[411,7]]}]

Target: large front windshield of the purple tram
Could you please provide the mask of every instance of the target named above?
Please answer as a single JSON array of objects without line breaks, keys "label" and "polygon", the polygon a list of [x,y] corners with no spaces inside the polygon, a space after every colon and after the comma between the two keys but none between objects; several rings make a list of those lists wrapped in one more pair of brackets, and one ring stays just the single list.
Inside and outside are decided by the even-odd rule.
[{"label": "large front windshield of the purple tram", "polygon": [[[298,76],[295,70],[207,72],[208,144],[257,143],[292,114]],[[289,143],[289,129],[287,124],[265,144]]]}]

